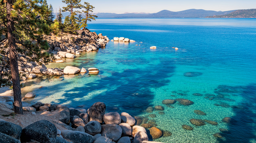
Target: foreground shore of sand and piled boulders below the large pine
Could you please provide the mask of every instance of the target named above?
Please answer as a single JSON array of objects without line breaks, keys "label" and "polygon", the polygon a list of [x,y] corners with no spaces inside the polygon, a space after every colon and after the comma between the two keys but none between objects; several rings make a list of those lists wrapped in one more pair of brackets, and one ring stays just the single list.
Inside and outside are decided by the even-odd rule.
[{"label": "foreground shore of sand and piled boulders below the large pine", "polygon": [[102,102],[87,110],[23,102],[24,115],[14,114],[8,102],[11,96],[0,96],[1,143],[157,143],[148,140],[163,135],[157,127],[139,126],[141,118],[128,113],[105,113]]}]

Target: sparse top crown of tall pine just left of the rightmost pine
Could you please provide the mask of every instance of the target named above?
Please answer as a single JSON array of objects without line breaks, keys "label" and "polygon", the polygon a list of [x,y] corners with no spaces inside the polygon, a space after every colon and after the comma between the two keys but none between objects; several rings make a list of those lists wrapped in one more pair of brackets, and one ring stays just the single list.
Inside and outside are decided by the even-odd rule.
[{"label": "sparse top crown of tall pine just left of the rightmost pine", "polygon": [[[63,7],[62,12],[66,12],[69,11],[71,13],[71,15],[73,15],[74,13],[78,12],[81,13],[80,11],[76,10],[73,11],[73,9],[81,9],[82,5],[80,4],[81,0],[63,0],[63,3],[67,4],[67,7]],[[73,13],[74,12],[74,13]],[[75,14],[76,15],[76,14]]]}]

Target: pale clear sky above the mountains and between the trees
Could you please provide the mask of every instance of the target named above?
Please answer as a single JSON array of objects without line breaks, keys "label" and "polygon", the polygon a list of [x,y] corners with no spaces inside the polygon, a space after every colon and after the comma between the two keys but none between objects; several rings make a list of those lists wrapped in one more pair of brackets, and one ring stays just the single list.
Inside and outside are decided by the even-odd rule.
[{"label": "pale clear sky above the mountains and between the trees", "polygon": [[[85,0],[81,0],[83,4]],[[181,11],[186,9],[204,9],[227,11],[256,8],[256,0],[86,0],[93,5],[94,12],[146,12],[155,13],[161,10]],[[61,0],[48,0],[54,12],[66,4]]]}]

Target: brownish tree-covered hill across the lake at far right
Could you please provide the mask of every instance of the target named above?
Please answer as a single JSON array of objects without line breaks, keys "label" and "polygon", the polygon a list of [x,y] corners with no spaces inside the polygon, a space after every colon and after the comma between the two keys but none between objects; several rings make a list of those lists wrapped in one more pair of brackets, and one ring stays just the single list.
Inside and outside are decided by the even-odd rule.
[{"label": "brownish tree-covered hill across the lake at far right", "polygon": [[256,18],[256,9],[241,9],[225,15],[207,16],[207,18]]}]

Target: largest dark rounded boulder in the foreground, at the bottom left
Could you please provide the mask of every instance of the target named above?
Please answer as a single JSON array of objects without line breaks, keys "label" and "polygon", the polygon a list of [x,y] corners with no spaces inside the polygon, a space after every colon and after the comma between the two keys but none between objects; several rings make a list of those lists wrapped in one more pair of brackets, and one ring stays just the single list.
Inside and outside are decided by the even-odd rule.
[{"label": "largest dark rounded boulder in the foreground, at the bottom left", "polygon": [[57,129],[53,123],[47,120],[34,122],[22,130],[20,141],[22,143],[32,140],[40,143],[55,143]]}]

